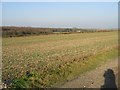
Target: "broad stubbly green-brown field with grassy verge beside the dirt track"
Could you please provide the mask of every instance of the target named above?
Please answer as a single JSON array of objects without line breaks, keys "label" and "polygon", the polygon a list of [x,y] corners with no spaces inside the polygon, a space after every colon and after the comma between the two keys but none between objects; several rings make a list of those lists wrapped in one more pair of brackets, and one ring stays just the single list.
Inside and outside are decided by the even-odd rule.
[{"label": "broad stubbly green-brown field with grassy verge beside the dirt track", "polygon": [[54,87],[117,57],[117,31],[3,38],[8,87]]}]

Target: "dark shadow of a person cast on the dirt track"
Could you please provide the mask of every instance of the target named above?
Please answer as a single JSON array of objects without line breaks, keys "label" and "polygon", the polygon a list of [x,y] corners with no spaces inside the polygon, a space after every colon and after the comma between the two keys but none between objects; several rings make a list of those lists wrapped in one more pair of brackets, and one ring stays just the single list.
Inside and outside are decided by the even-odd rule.
[{"label": "dark shadow of a person cast on the dirt track", "polygon": [[115,82],[115,74],[112,69],[108,69],[104,73],[104,85],[101,86],[101,90],[105,90],[106,88],[111,88],[112,90],[117,90],[116,82]]}]

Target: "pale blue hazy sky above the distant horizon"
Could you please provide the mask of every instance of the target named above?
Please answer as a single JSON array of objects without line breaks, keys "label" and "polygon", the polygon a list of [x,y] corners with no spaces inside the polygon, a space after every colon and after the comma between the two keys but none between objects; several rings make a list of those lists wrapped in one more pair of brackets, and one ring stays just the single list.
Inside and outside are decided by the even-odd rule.
[{"label": "pale blue hazy sky above the distant horizon", "polygon": [[3,2],[2,25],[117,28],[117,2]]}]

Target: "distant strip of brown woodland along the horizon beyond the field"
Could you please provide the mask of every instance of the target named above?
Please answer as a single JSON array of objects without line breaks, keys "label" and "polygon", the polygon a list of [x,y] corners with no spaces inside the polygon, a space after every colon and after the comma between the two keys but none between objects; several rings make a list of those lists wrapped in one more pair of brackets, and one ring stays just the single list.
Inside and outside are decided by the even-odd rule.
[{"label": "distant strip of brown woodland along the horizon beyond the field", "polygon": [[2,37],[20,37],[28,35],[72,34],[72,33],[110,32],[110,31],[115,30],[2,26]]}]

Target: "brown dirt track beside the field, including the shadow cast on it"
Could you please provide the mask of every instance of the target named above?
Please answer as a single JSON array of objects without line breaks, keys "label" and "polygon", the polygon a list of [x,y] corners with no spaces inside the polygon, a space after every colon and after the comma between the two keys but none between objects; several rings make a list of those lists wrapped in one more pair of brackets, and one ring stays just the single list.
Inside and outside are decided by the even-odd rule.
[{"label": "brown dirt track beside the field, including the shadow cast on it", "polygon": [[[107,71],[105,73],[105,71]],[[115,77],[114,77],[115,75]],[[111,88],[118,86],[118,59],[103,63],[100,67],[82,74],[80,77],[65,83],[60,88]]]}]

